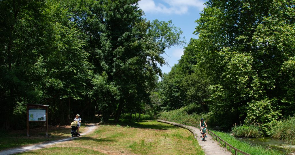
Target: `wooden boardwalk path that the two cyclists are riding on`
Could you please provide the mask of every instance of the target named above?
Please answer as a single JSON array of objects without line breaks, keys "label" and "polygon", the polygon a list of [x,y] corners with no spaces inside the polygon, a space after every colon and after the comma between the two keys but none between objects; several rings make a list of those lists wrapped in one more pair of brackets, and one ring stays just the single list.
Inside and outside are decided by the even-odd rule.
[{"label": "wooden boardwalk path that the two cyclists are riding on", "polygon": [[164,120],[157,120],[158,122],[167,123],[175,126],[179,126],[191,131],[197,139],[199,145],[202,147],[206,155],[231,155],[230,151],[227,151],[224,147],[220,146],[220,144],[212,138],[209,134],[207,134],[206,141],[202,141],[200,129],[194,126],[188,126],[184,124],[178,124],[175,122],[169,122]]}]

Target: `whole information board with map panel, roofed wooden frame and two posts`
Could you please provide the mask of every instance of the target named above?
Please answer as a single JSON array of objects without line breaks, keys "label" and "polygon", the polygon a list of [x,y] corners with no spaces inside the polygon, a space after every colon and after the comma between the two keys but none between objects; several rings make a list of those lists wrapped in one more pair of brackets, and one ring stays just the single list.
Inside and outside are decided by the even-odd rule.
[{"label": "whole information board with map panel, roofed wooden frame and two posts", "polygon": [[48,105],[27,104],[27,136],[30,136],[29,131],[30,122],[44,122],[46,123],[46,135],[48,136]]}]

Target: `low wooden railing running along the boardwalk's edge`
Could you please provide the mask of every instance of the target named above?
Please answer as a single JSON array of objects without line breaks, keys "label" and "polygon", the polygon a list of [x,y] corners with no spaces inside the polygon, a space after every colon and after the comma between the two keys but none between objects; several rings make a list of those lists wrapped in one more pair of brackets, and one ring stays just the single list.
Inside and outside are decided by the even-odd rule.
[{"label": "low wooden railing running along the boardwalk's edge", "polygon": [[[164,120],[164,121],[175,122],[175,123],[179,123],[179,124],[184,124],[184,125],[189,125],[189,126],[194,126],[194,127],[197,127],[197,128],[200,127],[199,124],[193,124],[193,123],[188,123],[188,122],[183,122],[183,121],[177,121],[177,120],[173,120],[173,119],[162,119],[162,118],[158,118],[158,119]],[[250,155],[250,154],[248,154],[246,152],[243,152],[243,151],[241,151],[241,150],[239,150],[239,149],[231,146],[230,144],[228,144],[226,141],[224,141],[223,139],[221,139],[219,136],[217,136],[216,134],[214,134],[209,129],[207,129],[207,130],[208,130],[208,133],[212,136],[213,139],[216,139],[216,141],[218,141],[218,143],[220,143],[223,147],[225,147],[232,154],[237,155],[237,153],[240,152],[241,154]],[[235,151],[235,153],[233,153],[232,151]]]}]

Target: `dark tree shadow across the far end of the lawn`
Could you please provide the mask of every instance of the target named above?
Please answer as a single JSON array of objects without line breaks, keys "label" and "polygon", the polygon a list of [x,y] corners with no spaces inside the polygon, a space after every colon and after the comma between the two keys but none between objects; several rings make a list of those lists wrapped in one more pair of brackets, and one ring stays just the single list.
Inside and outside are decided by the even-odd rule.
[{"label": "dark tree shadow across the far end of the lawn", "polygon": [[164,124],[164,123],[159,123],[157,124],[142,124],[144,122],[149,122],[149,121],[129,121],[129,119],[119,119],[118,122],[115,122],[114,119],[109,120],[110,125],[117,125],[119,124],[120,126],[130,126],[134,128],[141,128],[141,129],[158,129],[158,130],[169,130],[169,129],[178,129],[179,127],[173,126],[170,124]]}]

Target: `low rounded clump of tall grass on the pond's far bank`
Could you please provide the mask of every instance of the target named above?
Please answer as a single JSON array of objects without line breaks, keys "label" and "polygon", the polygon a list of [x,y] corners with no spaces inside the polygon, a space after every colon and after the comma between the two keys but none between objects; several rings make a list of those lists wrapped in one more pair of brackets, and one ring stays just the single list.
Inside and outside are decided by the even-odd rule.
[{"label": "low rounded clump of tall grass on the pond's far bank", "polygon": [[260,136],[259,127],[256,125],[242,125],[232,127],[232,134],[235,137],[253,138]]}]

